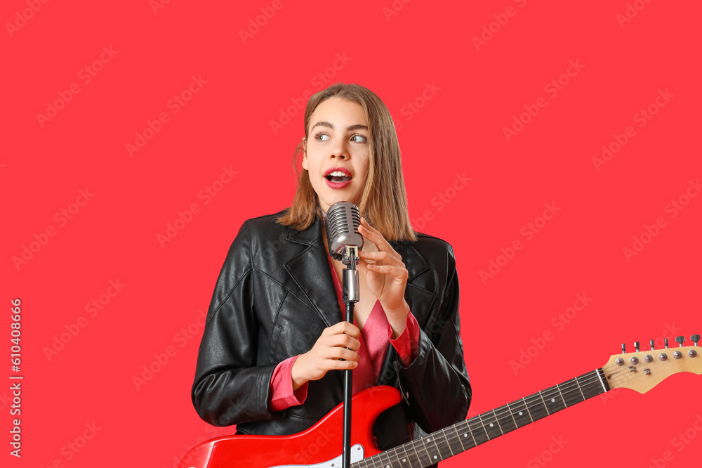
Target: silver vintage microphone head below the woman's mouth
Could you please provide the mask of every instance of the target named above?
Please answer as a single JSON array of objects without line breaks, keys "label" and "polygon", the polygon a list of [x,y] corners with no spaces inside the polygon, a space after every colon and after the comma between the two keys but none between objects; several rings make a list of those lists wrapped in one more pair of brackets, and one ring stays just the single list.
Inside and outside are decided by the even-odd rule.
[{"label": "silver vintage microphone head below the woman's mouth", "polygon": [[363,236],[358,233],[361,214],[358,207],[351,202],[336,202],[326,212],[326,240],[329,241],[329,255],[335,260],[349,264],[351,259],[347,252],[355,250],[355,261],[358,262],[358,250],[363,247]]}]

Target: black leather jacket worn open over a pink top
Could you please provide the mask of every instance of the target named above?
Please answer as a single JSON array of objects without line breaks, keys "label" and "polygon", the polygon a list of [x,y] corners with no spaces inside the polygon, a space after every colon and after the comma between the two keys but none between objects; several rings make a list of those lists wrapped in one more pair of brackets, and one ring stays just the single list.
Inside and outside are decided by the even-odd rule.
[{"label": "black leather jacket worn open over a pink top", "polygon": [[[275,366],[309,351],[341,318],[322,224],[306,230],[249,219],[232,242],[217,280],[197,357],[192,402],[215,426],[237,424],[244,434],[295,434],[343,401],[343,372],[309,382],[302,405],[268,408]],[[418,356],[404,368],[390,346],[378,384],[395,386],[404,401],[375,425],[380,448],[411,438],[414,422],[426,432],[465,419],[470,383],[463,360],[458,278],[453,249],[418,235],[391,242],[409,271],[405,298],[422,331]]]}]

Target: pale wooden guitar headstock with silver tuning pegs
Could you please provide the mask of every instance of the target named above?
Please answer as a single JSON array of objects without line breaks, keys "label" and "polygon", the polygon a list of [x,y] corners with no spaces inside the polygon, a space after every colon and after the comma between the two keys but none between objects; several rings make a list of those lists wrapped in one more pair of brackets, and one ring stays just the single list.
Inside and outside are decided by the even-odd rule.
[{"label": "pale wooden guitar headstock with silver tuning pegs", "polygon": [[636,342],[634,353],[624,353],[622,344],[623,353],[611,356],[602,367],[609,388],[623,387],[644,394],[677,372],[702,374],[702,349],[697,346],[699,339],[699,335],[694,334],[691,337],[694,346],[682,346],[684,337],[677,337],[675,341],[681,346],[674,348],[668,348],[668,339],[665,339],[665,349],[655,350],[651,341],[650,351],[640,351],[639,342]]}]

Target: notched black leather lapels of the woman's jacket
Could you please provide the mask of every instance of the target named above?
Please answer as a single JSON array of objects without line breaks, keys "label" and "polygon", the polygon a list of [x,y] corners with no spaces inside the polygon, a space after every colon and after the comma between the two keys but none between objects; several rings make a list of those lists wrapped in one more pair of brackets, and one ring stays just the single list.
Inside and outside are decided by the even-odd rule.
[{"label": "notched black leather lapels of the woman's jacket", "polygon": [[[285,270],[326,325],[329,327],[338,323],[341,312],[331,277],[328,253],[322,240],[322,221],[315,218],[312,226],[305,230],[289,227],[285,240],[303,247],[301,251],[294,248],[282,250],[296,252],[291,258],[283,261]],[[429,267],[411,242],[390,242],[390,245],[402,256],[402,262],[409,272],[408,285],[428,271]]]}]

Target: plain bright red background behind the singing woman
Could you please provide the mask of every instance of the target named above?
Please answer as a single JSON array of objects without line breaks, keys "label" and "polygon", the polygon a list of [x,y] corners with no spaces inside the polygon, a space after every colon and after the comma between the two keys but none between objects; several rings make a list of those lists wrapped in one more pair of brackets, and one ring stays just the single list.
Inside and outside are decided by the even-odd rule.
[{"label": "plain bright red background behind the singing woman", "polygon": [[[324,86],[355,82],[385,101],[397,121],[411,219],[456,251],[471,415],[600,367],[621,342],[662,346],[663,337],[702,331],[702,197],[683,197],[689,204],[676,216],[669,205],[702,175],[698,2],[283,1],[274,10],[272,1],[173,0],[155,11],[147,0],[34,3],[36,13],[27,9],[32,0],[8,0],[0,14],[0,351],[10,354],[7,312],[19,297],[25,376],[22,458],[5,445],[4,466],[171,467],[197,441],[233,431],[208,427],[190,402],[198,311],[241,223],[291,202],[302,112],[291,108],[291,122],[275,132],[271,122],[321,89],[320,73]],[[256,30],[250,20],[260,8],[274,14]],[[244,40],[249,27],[255,34]],[[103,47],[114,56],[103,54],[107,63],[86,83],[81,70]],[[568,77],[571,61],[581,70]],[[193,76],[206,83],[174,113],[169,100]],[[545,86],[559,77],[564,86],[553,96]],[[40,123],[47,103],[74,83],[80,91]],[[427,84],[435,93],[423,101]],[[668,91],[661,108],[659,90]],[[545,107],[525,115],[508,141],[504,128],[540,97]],[[413,102],[422,106],[416,112]],[[656,115],[640,127],[636,115],[649,105]],[[161,112],[168,122],[131,156],[127,143]],[[628,126],[635,136],[596,167],[602,145],[614,135],[623,141]],[[198,194],[223,167],[237,174],[205,203]],[[454,191],[456,174],[471,180]],[[86,188],[94,195],[79,200],[72,219],[55,217]],[[199,213],[161,246],[157,235],[193,203]],[[551,203],[560,210],[528,240],[520,231]],[[659,217],[665,226],[627,258],[625,247]],[[50,226],[55,235],[15,265]],[[522,249],[482,280],[479,271],[515,240]],[[86,304],[110,280],[124,287],[90,316]],[[576,294],[592,301],[557,327],[552,320]],[[547,331],[552,339],[513,372],[510,361]],[[133,378],[168,346],[175,354],[137,388]],[[12,419],[6,382],[3,439]],[[643,396],[597,397],[443,465],[534,467],[543,456],[550,467],[690,466],[702,447],[694,426],[701,388],[701,377],[684,374]],[[93,422],[95,436],[77,453],[68,449]],[[696,437],[680,446],[685,431]],[[567,444],[549,453],[552,437]],[[663,460],[666,451],[672,460]]]}]

